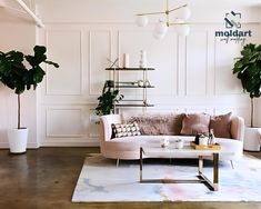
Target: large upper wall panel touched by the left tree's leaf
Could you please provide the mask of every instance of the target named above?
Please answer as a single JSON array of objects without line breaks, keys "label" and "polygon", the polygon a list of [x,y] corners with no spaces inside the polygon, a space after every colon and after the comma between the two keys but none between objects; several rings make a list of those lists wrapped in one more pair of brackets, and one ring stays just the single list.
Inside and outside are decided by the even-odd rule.
[{"label": "large upper wall panel touched by the left tree's leaf", "polygon": [[[47,94],[81,94],[81,31],[47,31],[49,57],[60,64],[48,67]],[[61,79],[62,78],[62,79]]]}]

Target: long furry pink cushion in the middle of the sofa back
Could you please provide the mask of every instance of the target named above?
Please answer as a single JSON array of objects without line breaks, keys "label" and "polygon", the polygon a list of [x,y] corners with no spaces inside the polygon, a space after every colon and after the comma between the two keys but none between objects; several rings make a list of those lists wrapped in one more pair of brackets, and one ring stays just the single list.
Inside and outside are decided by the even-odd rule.
[{"label": "long furry pink cushion in the middle of the sofa back", "polygon": [[180,135],[183,115],[180,113],[147,113],[132,116],[128,122],[138,122],[141,135]]}]

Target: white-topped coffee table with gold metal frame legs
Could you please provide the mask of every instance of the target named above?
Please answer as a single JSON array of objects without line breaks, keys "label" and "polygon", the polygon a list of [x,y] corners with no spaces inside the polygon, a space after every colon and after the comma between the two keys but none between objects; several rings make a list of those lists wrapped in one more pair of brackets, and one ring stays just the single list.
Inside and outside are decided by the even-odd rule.
[{"label": "white-topped coffee table with gold metal frame legs", "polygon": [[[218,191],[219,186],[219,153],[220,150],[195,150],[189,145],[184,146],[182,149],[174,149],[171,147],[161,148],[160,146],[141,146],[140,147],[140,182],[141,183],[204,183],[210,190]],[[188,158],[188,157],[199,157],[199,173],[197,179],[192,180],[180,180],[180,179],[143,179],[143,158]],[[211,182],[203,175],[203,157],[213,157],[213,182]]]}]

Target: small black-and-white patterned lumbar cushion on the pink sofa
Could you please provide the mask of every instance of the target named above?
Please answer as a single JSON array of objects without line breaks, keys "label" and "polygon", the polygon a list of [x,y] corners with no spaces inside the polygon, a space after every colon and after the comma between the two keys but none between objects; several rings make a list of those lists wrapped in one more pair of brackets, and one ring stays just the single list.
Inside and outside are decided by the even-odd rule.
[{"label": "small black-and-white patterned lumbar cushion on the pink sofa", "polygon": [[140,136],[140,128],[137,122],[133,123],[112,123],[112,138]]}]

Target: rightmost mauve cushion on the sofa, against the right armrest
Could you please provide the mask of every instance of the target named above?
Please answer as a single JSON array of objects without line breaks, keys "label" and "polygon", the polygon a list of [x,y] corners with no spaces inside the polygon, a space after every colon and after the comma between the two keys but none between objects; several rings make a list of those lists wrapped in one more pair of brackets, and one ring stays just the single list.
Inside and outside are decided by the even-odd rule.
[{"label": "rightmost mauve cushion on the sofa, against the right armrest", "polygon": [[227,115],[220,115],[210,118],[210,129],[213,129],[214,137],[231,138],[231,115],[232,112],[229,112]]}]

